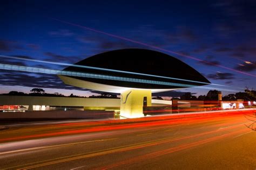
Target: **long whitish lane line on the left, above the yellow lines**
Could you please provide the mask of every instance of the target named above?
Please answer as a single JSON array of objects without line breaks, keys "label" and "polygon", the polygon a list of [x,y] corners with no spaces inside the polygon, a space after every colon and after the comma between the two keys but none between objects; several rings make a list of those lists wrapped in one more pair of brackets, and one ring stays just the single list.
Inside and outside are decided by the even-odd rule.
[{"label": "long whitish lane line on the left, above the yellow lines", "polygon": [[3,154],[10,154],[10,153],[17,153],[17,152],[24,152],[24,151],[33,151],[33,150],[36,150],[36,149],[45,149],[45,148],[51,148],[51,147],[59,147],[59,146],[68,146],[68,145],[85,144],[85,143],[97,142],[97,141],[108,141],[108,140],[115,140],[115,139],[118,139],[118,138],[90,140],[90,141],[75,142],[75,143],[62,144],[62,145],[32,147],[32,148],[26,148],[26,149],[19,149],[19,150],[15,150],[15,151],[0,152],[0,155],[3,155]]}]

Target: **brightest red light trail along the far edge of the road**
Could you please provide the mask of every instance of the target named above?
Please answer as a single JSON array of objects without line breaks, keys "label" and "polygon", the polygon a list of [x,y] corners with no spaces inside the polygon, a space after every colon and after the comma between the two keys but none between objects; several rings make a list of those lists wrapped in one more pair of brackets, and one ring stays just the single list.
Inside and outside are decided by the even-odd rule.
[{"label": "brightest red light trail along the far edge of the road", "polygon": [[[52,125],[52,127],[60,127],[60,126],[76,126],[76,125],[93,125],[95,127],[83,127],[79,130],[64,130],[64,131],[57,131],[51,133],[43,133],[43,134],[33,134],[33,135],[24,135],[18,136],[13,138],[2,138],[0,142],[6,141],[14,141],[14,140],[22,140],[22,139],[31,139],[31,138],[42,138],[42,137],[54,137],[57,135],[69,135],[69,134],[80,134],[80,133],[90,133],[90,132],[100,132],[100,131],[112,131],[112,130],[123,130],[126,128],[137,128],[137,127],[153,127],[153,126],[162,126],[162,125],[172,125],[172,124],[179,124],[184,123],[184,119],[178,118],[190,118],[189,120],[193,120],[193,122],[201,121],[201,119],[212,119],[213,117],[221,117],[223,115],[235,115],[235,114],[244,114],[248,113],[248,111],[239,111],[239,112],[219,112],[219,113],[205,113],[205,114],[180,114],[180,115],[170,115],[170,116],[159,116],[159,117],[148,117],[148,118],[137,118],[137,119],[125,119],[125,120],[109,120],[103,121],[103,123],[134,123],[134,124],[126,124],[126,125],[109,125],[104,126],[103,123],[100,122],[93,122],[93,123],[74,123],[70,124],[58,124],[57,126]],[[201,117],[199,117],[201,115]],[[166,120],[167,119],[167,120]],[[149,121],[146,123],[141,123],[142,121]],[[187,120],[185,120],[187,121]],[[136,123],[138,122],[138,123]]]}]

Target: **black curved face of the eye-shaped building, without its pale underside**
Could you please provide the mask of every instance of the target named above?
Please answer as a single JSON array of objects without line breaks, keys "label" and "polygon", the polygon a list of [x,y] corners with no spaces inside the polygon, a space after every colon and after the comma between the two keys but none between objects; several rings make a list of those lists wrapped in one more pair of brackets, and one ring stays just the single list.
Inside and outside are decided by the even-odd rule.
[{"label": "black curved face of the eye-shaped building, without its pale underside", "polygon": [[[194,70],[191,66],[181,62],[179,59],[166,55],[165,53],[146,50],[146,49],[122,49],[122,50],[108,51],[108,52],[100,53],[98,55],[86,58],[76,63],[76,65],[86,65],[86,66],[100,67],[104,69],[152,74],[156,76],[200,81],[203,83],[194,83],[194,82],[192,83],[189,81],[142,76],[142,75],[129,74],[129,73],[84,69],[81,67],[74,67],[74,66],[67,67],[64,70],[97,73],[97,74],[104,74],[109,76],[148,79],[148,80],[156,80],[156,81],[167,81],[171,83],[190,84],[194,86],[205,85],[204,83],[210,83],[210,81],[208,81],[198,71]],[[143,83],[133,83],[133,82],[126,82],[126,81],[116,81],[116,80],[102,80],[102,79],[82,78],[82,77],[74,77],[74,78],[82,79],[86,81],[92,81],[94,83],[106,84],[106,85],[134,87],[134,88],[143,88],[143,89],[180,88],[179,86],[166,86],[166,85],[145,84],[145,83],[143,84]]]}]

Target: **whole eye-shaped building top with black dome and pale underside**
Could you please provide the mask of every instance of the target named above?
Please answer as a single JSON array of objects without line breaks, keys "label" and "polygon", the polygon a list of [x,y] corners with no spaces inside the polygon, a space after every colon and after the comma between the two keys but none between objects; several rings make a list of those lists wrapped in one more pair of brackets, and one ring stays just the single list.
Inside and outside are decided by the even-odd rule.
[{"label": "whole eye-shaped building top with black dome and pale underside", "polygon": [[64,70],[89,73],[89,76],[59,76],[64,83],[97,91],[122,93],[129,89],[143,89],[161,92],[210,84],[198,71],[179,59],[146,49],[104,52],[75,65],[80,66],[69,66]]}]

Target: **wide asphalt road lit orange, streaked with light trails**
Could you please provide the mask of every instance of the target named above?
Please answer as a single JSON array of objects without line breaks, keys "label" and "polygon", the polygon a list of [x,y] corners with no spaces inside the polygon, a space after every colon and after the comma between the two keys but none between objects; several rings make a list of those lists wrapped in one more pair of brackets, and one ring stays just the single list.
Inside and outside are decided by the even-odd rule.
[{"label": "wide asphalt road lit orange, streaked with light trails", "polygon": [[[254,170],[256,132],[245,126],[250,123],[244,114],[208,115],[96,125],[102,131],[9,140],[0,144],[0,169]],[[41,133],[49,132],[49,126],[60,125],[45,125]],[[62,131],[83,128],[89,127],[70,123]],[[5,133],[23,131],[25,127],[12,127]]]}]

